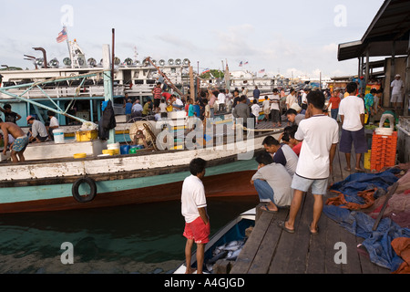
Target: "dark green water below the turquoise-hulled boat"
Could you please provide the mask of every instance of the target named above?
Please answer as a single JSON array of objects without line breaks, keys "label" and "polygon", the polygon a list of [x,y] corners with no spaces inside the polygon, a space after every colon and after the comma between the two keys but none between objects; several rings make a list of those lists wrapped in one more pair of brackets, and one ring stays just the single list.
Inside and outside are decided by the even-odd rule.
[{"label": "dark green water below the turquoise-hulled boat", "polygon": [[[256,196],[208,199],[211,235]],[[184,260],[180,202],[0,216],[1,274],[163,274]],[[63,257],[72,245],[73,263]]]}]

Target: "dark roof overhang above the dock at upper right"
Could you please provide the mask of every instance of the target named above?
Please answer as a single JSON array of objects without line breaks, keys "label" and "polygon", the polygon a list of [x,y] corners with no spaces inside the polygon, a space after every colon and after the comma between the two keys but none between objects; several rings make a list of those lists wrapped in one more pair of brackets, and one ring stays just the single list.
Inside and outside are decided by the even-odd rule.
[{"label": "dark roof overhang above the dock at upper right", "polygon": [[386,0],[374,17],[363,38],[340,44],[339,61],[364,57],[391,56],[395,42],[395,55],[406,55],[410,33],[410,1]]}]

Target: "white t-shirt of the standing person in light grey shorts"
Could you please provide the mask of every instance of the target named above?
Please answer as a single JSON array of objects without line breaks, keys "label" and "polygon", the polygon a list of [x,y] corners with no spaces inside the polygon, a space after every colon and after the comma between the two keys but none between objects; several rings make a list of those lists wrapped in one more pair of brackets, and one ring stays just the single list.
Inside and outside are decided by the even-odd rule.
[{"label": "white t-shirt of the standing person in light grey shorts", "polygon": [[339,126],[330,117],[302,120],[294,138],[303,141],[296,174],[311,180],[329,178],[330,150],[339,142]]}]

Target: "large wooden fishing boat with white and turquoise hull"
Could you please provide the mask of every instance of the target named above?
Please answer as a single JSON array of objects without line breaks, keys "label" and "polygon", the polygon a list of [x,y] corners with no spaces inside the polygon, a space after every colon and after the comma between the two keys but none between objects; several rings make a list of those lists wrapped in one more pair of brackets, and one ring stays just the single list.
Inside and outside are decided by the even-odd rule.
[{"label": "large wooden fishing boat with white and turquoise hull", "polygon": [[[112,103],[113,78],[108,45],[103,48],[103,56],[104,66],[99,72],[47,79],[16,87],[25,88],[26,92],[30,89],[43,90],[42,86],[46,84],[74,78],[80,78],[81,85],[87,78],[101,74],[105,100]],[[38,108],[52,110],[83,123],[89,122],[71,115],[67,109],[61,109],[55,99],[46,93],[55,108],[17,95],[14,89],[11,87],[11,91],[6,91],[3,88],[1,91]],[[0,214],[179,200],[182,182],[190,175],[190,161],[197,157],[209,162],[208,175],[204,181],[209,196],[256,194],[249,183],[257,167],[252,161],[253,155],[262,151],[261,143],[267,135],[276,135],[278,138],[281,130],[265,130],[256,135],[249,130],[243,135],[243,129],[235,129],[232,135],[218,131],[210,132],[209,135],[192,131],[185,135],[186,119],[179,119],[179,114],[169,113],[169,120],[165,121],[169,126],[165,128],[162,122],[139,121],[136,129],[141,127],[139,130],[143,131],[147,140],[151,140],[152,147],[128,151],[122,155],[120,145],[115,140],[115,129],[109,130],[108,141],[93,140],[93,130],[87,130],[82,131],[91,136],[86,141],[30,145],[26,150],[27,155],[31,151],[35,159],[17,164],[6,161],[0,163]],[[227,127],[224,123],[229,119],[224,118],[221,116],[220,121],[214,123]],[[173,123],[175,120],[176,123]],[[228,125],[231,127],[231,124]],[[114,149],[109,149],[113,145],[116,145]],[[161,145],[162,148],[158,147]]]}]

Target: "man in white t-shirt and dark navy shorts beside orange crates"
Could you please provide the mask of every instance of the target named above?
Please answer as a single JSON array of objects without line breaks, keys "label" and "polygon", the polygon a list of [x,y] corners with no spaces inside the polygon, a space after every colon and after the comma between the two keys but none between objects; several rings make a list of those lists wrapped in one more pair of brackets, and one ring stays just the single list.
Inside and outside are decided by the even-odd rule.
[{"label": "man in white t-shirt and dark navy shorts beside orange crates", "polygon": [[364,133],[364,100],[356,97],[357,84],[352,82],[346,86],[349,96],[342,99],[339,106],[339,115],[342,120],[342,137],[340,151],[345,153],[347,166],[346,172],[351,172],[351,152],[354,144],[356,153],[356,172],[364,172],[360,167],[362,155],[368,151]]}]

